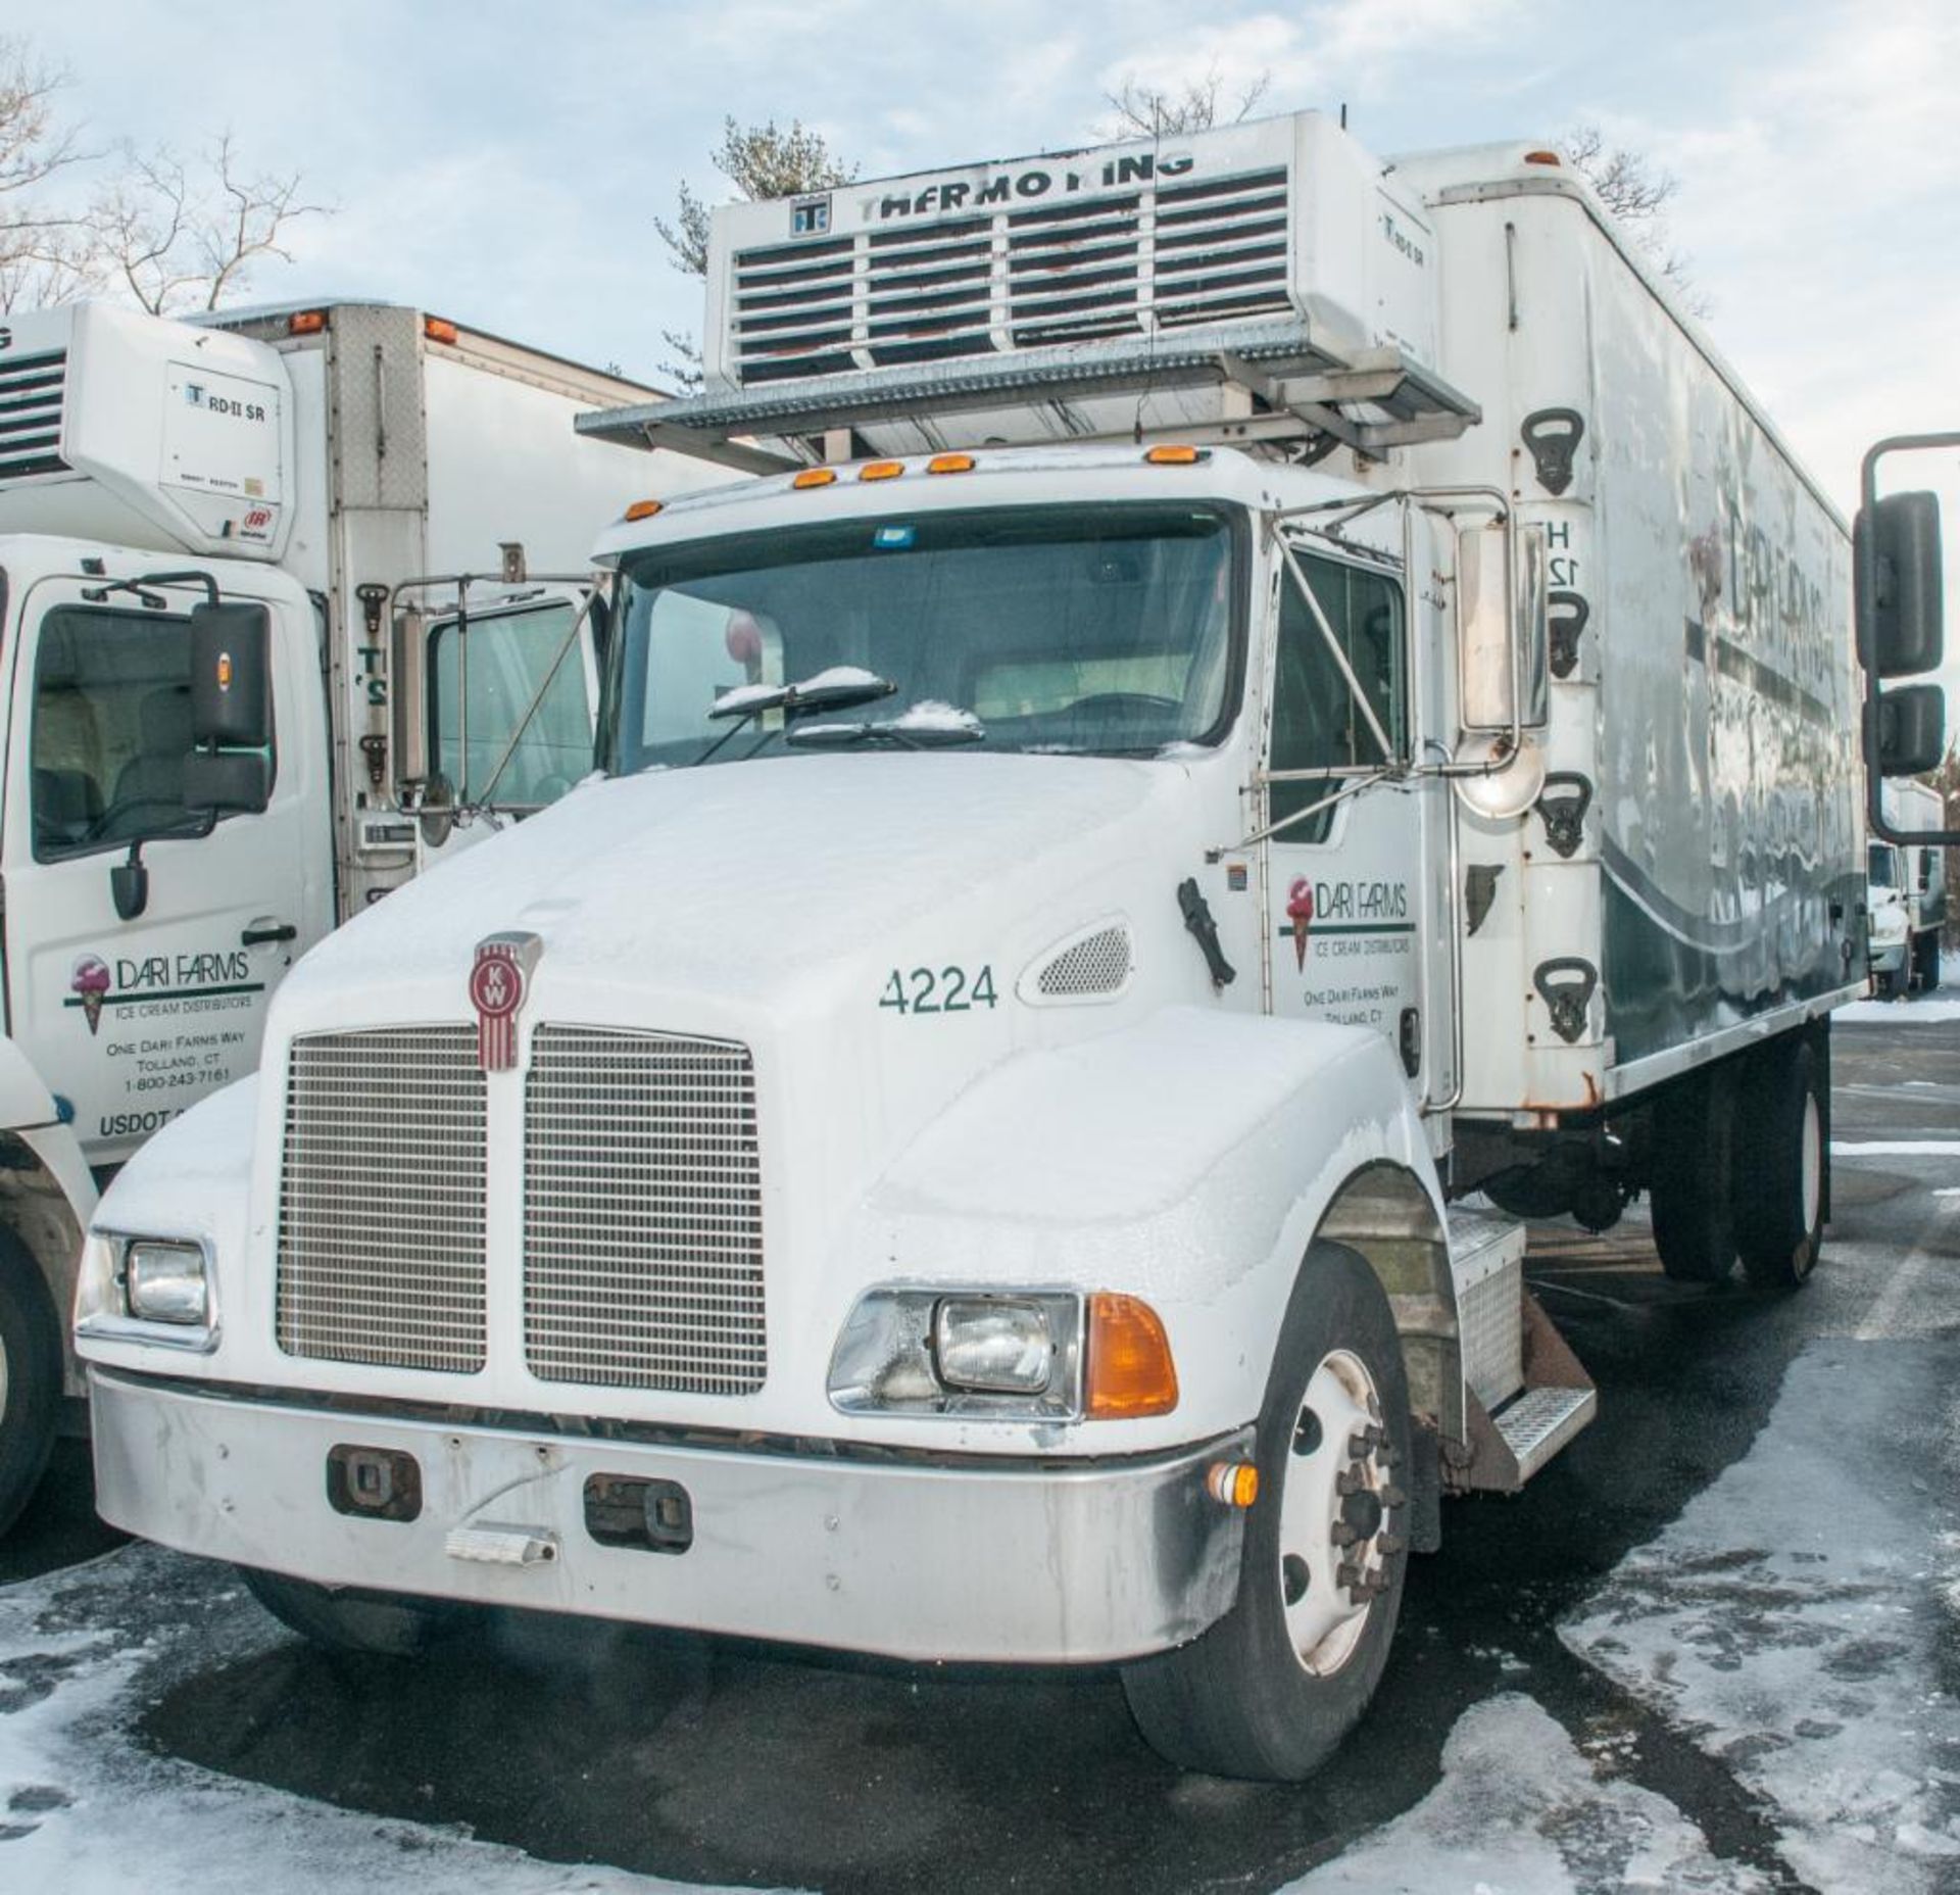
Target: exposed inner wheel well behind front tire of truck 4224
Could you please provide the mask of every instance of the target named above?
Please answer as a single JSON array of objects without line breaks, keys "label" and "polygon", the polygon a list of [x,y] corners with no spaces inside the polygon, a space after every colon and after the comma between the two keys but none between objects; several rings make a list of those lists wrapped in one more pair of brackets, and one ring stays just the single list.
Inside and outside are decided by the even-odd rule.
[{"label": "exposed inner wheel well behind front tire of truck 4224", "polygon": [[1462,1354],[1443,1215],[1415,1172],[1366,1164],[1335,1191],[1315,1239],[1358,1252],[1388,1295],[1409,1376],[1409,1409],[1462,1436]]}]

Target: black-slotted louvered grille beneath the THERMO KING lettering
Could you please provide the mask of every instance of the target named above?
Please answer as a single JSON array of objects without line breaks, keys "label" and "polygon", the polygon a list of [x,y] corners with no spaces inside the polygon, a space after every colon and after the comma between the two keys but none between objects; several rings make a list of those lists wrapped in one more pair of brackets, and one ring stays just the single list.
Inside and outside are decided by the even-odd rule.
[{"label": "black-slotted louvered grille beneath the THERMO KING lettering", "polygon": [[1284,316],[1284,167],[737,251],[745,386]]}]

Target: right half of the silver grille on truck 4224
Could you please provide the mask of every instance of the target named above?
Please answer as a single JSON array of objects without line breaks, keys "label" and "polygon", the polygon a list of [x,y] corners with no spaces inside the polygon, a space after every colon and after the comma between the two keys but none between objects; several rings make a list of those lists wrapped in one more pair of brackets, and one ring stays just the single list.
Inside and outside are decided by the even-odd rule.
[{"label": "right half of the silver grille on truck 4224", "polygon": [[729,1041],[543,1025],[525,1092],[525,1360],[543,1382],[762,1385],[755,1068]]}]

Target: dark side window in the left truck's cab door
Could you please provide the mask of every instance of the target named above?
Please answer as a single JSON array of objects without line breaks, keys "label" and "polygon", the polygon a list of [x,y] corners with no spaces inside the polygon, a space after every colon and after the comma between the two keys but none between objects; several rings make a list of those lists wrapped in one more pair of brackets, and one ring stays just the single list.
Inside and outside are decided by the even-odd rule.
[{"label": "dark side window in the left truck's cab door", "polygon": [[194,827],[190,619],[57,606],[33,653],[33,854],[67,854]]}]

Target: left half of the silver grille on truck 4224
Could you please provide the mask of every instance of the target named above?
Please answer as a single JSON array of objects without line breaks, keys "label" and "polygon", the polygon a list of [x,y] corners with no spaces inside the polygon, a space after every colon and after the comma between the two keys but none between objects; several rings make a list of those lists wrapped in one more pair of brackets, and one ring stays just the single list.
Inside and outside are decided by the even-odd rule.
[{"label": "left half of the silver grille on truck 4224", "polygon": [[296,1039],[278,1186],[278,1346],[484,1366],[484,1078],[474,1027]]}]

